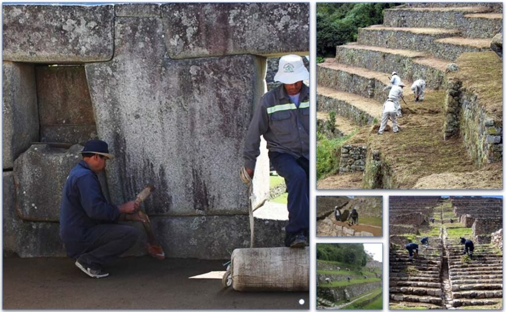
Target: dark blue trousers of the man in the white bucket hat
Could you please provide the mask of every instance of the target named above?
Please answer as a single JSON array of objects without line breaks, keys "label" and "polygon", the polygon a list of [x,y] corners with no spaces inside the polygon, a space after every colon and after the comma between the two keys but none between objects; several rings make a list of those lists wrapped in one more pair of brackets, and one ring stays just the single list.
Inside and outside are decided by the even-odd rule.
[{"label": "dark blue trousers of the man in the white bucket hat", "polygon": [[309,160],[290,154],[269,152],[271,164],[285,178],[288,188],[287,233],[309,235]]}]

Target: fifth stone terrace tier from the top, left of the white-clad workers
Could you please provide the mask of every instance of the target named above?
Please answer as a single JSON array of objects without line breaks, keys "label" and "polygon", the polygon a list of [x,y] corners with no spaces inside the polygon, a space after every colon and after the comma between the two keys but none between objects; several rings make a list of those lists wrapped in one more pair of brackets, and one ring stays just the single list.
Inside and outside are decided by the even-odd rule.
[{"label": "fifth stone terrace tier from the top, left of the white-clad workers", "polygon": [[335,110],[359,126],[381,120],[382,104],[363,96],[317,86],[317,111]]}]

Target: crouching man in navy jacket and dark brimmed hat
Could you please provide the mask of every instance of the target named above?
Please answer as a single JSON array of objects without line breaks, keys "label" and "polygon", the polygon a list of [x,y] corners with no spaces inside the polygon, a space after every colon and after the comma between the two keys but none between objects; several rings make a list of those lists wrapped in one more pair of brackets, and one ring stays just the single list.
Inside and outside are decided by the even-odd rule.
[{"label": "crouching man in navy jacket and dark brimmed hat", "polygon": [[97,174],[114,158],[107,143],[88,141],[81,154],[63,188],[60,236],[79,269],[92,278],[103,278],[109,275],[103,266],[129,250],[139,237],[135,227],[117,224],[118,220],[146,220],[135,213],[139,207],[134,201],[116,206],[105,199]]}]

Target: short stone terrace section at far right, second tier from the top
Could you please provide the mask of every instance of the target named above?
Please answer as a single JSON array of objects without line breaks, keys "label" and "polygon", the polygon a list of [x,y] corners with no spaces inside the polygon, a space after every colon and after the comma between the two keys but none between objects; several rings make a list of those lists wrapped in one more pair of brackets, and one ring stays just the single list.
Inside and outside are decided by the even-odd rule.
[{"label": "short stone terrace section at far right, second tier from the top", "polygon": [[447,37],[437,39],[430,47],[430,52],[437,58],[455,61],[465,52],[490,51],[492,38]]}]

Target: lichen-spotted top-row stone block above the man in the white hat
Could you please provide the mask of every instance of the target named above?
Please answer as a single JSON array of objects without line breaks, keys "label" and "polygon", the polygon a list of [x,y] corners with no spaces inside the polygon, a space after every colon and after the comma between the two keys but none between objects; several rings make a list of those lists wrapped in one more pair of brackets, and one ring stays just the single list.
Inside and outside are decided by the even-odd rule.
[{"label": "lichen-spotted top-row stone block above the man in the white hat", "polygon": [[309,51],[307,3],[164,4],[171,58]]}]

